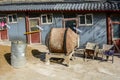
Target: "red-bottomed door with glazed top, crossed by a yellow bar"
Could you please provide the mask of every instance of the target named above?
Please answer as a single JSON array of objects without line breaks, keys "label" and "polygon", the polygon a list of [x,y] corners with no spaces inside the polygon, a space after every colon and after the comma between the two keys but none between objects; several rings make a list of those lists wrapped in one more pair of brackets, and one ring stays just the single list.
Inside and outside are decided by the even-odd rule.
[{"label": "red-bottomed door with glazed top, crossed by a yellow bar", "polygon": [[30,43],[40,43],[40,32],[39,28],[36,27],[39,25],[39,18],[30,18],[29,19],[29,32],[30,34]]}]

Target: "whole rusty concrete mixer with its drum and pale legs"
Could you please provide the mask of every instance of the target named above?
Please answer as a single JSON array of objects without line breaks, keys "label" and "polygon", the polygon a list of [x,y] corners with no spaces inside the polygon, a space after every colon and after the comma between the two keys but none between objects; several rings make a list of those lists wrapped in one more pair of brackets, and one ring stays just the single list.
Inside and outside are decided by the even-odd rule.
[{"label": "whole rusty concrete mixer with its drum and pale legs", "polygon": [[69,65],[69,60],[78,46],[78,35],[70,28],[52,28],[46,37],[46,63],[51,57],[64,58],[64,63]]}]

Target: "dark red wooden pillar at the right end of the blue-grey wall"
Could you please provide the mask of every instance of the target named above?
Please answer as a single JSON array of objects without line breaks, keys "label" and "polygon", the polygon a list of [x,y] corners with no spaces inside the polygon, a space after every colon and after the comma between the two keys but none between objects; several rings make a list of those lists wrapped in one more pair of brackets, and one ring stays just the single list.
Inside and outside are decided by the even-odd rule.
[{"label": "dark red wooden pillar at the right end of the blue-grey wall", "polygon": [[110,19],[110,14],[107,14],[106,18],[106,23],[107,23],[107,44],[112,44],[112,26],[111,26],[111,19]]}]

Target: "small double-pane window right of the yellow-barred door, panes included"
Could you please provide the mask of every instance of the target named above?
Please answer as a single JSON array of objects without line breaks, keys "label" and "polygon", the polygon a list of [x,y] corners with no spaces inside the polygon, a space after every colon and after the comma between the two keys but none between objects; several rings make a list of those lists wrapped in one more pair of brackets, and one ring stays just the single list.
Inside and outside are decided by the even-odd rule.
[{"label": "small double-pane window right of the yellow-barred door, panes included", "polygon": [[51,24],[52,23],[52,14],[44,14],[41,15],[41,23],[42,24]]}]

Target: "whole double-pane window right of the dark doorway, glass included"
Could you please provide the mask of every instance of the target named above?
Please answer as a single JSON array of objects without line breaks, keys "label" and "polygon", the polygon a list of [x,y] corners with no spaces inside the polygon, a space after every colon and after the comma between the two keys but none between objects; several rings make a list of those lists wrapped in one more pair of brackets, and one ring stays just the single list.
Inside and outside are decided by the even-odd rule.
[{"label": "whole double-pane window right of the dark doorway, glass included", "polygon": [[79,25],[92,25],[92,24],[93,24],[92,14],[79,15]]}]

